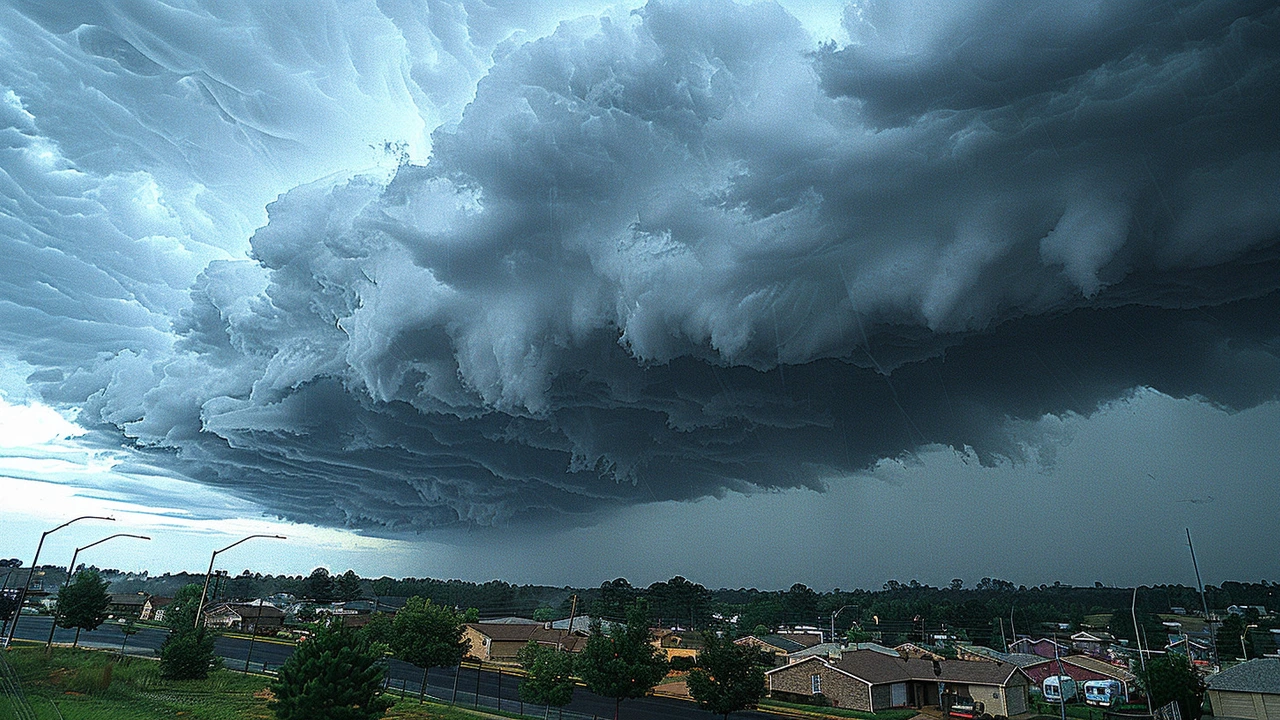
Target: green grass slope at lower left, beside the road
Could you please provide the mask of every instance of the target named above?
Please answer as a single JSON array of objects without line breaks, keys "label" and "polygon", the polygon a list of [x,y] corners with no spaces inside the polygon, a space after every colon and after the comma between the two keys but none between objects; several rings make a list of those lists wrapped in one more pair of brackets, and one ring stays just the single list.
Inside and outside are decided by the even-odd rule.
[{"label": "green grass slope at lower left, beside the road", "polygon": [[[270,678],[216,670],[206,680],[165,680],[152,660],[87,650],[15,647],[5,653],[38,720],[271,720]],[[56,706],[56,707],[55,707]],[[0,694],[0,717],[14,716]],[[403,700],[388,720],[476,720],[493,715]]]}]

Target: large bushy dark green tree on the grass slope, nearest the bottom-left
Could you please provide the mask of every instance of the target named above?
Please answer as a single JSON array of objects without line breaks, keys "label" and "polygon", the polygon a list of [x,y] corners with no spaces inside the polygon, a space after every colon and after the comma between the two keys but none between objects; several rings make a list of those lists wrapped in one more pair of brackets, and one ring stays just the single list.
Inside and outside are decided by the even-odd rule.
[{"label": "large bushy dark green tree on the grass slope, nearest the bottom-left", "polygon": [[280,666],[271,683],[278,720],[371,720],[392,703],[381,697],[381,652],[342,626],[321,626]]}]

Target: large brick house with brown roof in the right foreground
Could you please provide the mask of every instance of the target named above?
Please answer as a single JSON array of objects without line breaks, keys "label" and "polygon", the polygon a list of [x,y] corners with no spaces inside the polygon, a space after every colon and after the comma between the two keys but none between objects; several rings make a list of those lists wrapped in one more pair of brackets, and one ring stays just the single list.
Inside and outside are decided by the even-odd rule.
[{"label": "large brick house with brown roof in the right foreground", "polygon": [[892,707],[950,707],[959,700],[983,705],[989,715],[1025,712],[1030,680],[1016,665],[972,660],[890,657],[859,650],[838,660],[810,656],[764,673],[780,700],[822,696],[835,707],[877,712]]}]

